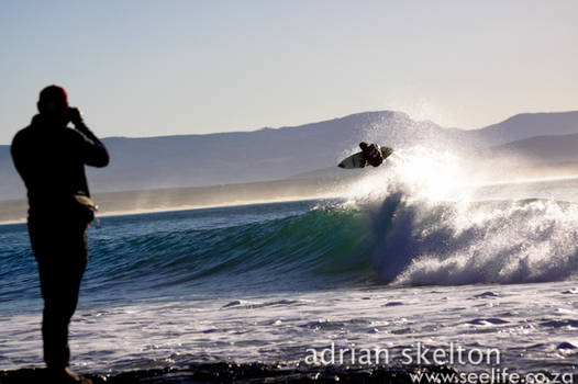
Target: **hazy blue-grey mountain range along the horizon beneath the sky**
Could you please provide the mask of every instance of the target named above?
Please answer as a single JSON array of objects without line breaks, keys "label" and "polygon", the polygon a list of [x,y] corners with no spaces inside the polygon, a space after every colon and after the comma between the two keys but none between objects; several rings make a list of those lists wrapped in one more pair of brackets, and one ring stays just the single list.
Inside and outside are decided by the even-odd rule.
[{"label": "hazy blue-grey mountain range along the horizon beneath the sky", "polygon": [[[98,134],[98,127],[95,127]],[[578,112],[516,115],[482,129],[443,128],[405,113],[365,112],[294,127],[211,135],[104,138],[111,154],[105,169],[89,168],[93,192],[220,185],[280,180],[329,169],[357,150],[360,140],[396,149],[411,145],[471,148],[502,145],[536,135],[578,133]],[[554,150],[554,149],[553,149]],[[322,174],[320,172],[319,174]],[[0,146],[0,199],[24,195],[10,158]]]}]

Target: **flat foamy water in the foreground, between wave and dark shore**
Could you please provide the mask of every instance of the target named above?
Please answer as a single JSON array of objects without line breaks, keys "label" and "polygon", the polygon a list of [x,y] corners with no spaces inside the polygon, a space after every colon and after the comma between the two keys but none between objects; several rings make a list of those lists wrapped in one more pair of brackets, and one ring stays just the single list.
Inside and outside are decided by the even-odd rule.
[{"label": "flat foamy water in the foreground, between wave and dark shore", "polygon": [[[41,365],[38,316],[2,318],[10,359],[0,369]],[[8,321],[7,321],[8,320]],[[304,361],[308,349],[497,348],[501,369],[576,370],[578,282],[373,287],[81,309],[71,324],[74,368],[118,372],[190,361]],[[97,331],[98,329],[98,331]],[[14,338],[18,335],[18,338]],[[15,340],[18,339],[18,340]],[[32,353],[31,353],[32,352]],[[457,361],[457,359],[456,359]],[[459,365],[459,370],[487,369]]]}]

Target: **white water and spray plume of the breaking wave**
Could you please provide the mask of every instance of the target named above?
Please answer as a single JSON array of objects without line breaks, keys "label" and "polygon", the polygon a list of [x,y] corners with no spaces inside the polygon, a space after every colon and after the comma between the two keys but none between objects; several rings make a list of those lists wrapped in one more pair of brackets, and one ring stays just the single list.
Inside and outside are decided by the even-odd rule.
[{"label": "white water and spray plume of the breaking wave", "polygon": [[[396,285],[531,283],[578,276],[578,179],[480,184],[451,154],[402,151],[354,185],[375,255]],[[387,217],[392,223],[384,223]]]}]

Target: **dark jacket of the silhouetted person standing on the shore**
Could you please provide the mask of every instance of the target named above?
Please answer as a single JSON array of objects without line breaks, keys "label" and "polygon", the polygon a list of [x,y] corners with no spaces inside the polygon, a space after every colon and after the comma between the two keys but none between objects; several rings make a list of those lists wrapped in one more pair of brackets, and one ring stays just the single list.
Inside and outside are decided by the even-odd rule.
[{"label": "dark jacket of the silhouetted person standing on the shore", "polygon": [[11,153],[27,189],[29,221],[66,214],[75,193],[90,195],[85,165],[109,163],[107,148],[84,123],[73,129],[42,114],[14,136]]}]

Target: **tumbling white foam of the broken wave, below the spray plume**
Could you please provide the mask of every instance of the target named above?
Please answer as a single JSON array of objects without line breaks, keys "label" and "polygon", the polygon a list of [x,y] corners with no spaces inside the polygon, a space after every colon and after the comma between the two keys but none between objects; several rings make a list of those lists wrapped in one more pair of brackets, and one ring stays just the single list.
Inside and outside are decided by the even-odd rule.
[{"label": "tumbling white foam of the broken wave, below the spray plume", "polygon": [[394,284],[534,283],[578,272],[576,204],[400,201],[393,216],[378,258]]}]

